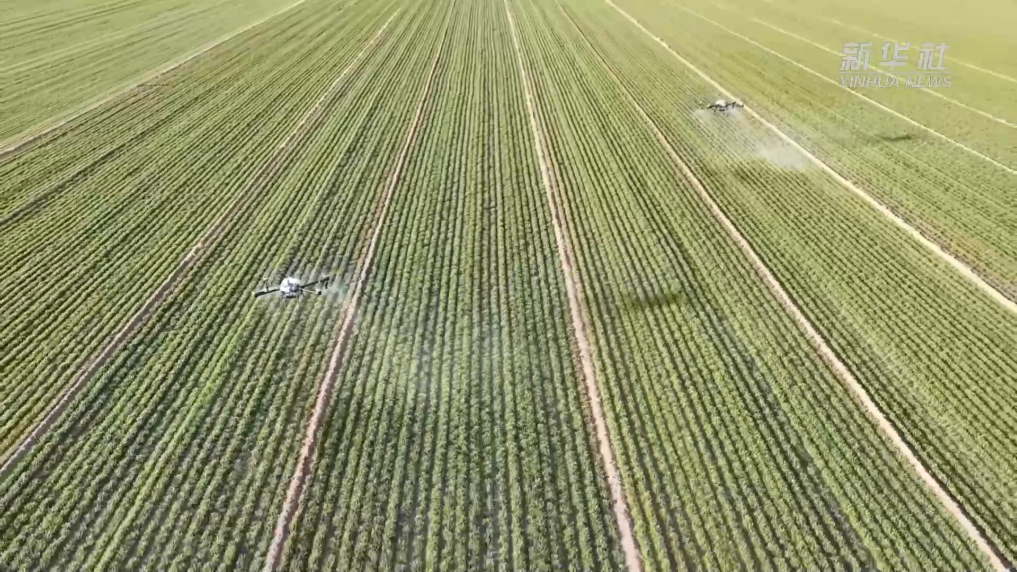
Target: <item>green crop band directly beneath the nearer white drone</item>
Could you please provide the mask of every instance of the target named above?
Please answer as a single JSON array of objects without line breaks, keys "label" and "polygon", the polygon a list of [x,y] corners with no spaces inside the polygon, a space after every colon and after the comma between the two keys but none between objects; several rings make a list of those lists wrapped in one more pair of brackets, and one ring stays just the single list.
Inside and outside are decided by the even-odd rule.
[{"label": "green crop band directly beneath the nearer white drone", "polygon": [[[426,71],[420,47],[439,28],[433,8],[404,7],[255,208],[3,483],[5,565],[261,567],[345,279]],[[392,10],[369,8],[373,30]],[[335,270],[341,285],[252,300],[270,269]]]}]

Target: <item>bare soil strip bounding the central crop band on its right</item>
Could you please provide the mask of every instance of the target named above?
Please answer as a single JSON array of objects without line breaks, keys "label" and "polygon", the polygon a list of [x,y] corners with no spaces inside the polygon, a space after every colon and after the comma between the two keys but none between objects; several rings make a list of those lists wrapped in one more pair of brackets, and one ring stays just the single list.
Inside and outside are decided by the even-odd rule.
[{"label": "bare soil strip bounding the central crop band on its right", "polygon": [[536,103],[533,99],[533,88],[530,83],[530,76],[526,71],[526,66],[523,63],[523,54],[519,45],[519,33],[516,30],[516,18],[508,8],[508,0],[504,0],[504,4],[505,13],[508,15],[508,24],[512,27],[516,60],[519,64],[520,75],[523,78],[526,110],[530,116],[530,128],[533,131],[533,145],[537,153],[537,162],[540,166],[540,178],[544,183],[544,190],[547,193],[547,204],[551,211],[551,222],[554,226],[554,241],[557,244],[558,263],[561,266],[561,273],[564,277],[565,294],[569,297],[569,310],[572,314],[573,332],[576,336],[576,346],[579,350],[579,360],[583,369],[583,383],[590,400],[594,432],[600,449],[600,457],[604,463],[604,472],[607,475],[607,482],[611,491],[614,517],[617,520],[618,531],[621,536],[621,550],[625,555],[625,565],[629,572],[641,572],[643,570],[643,562],[636,544],[636,536],[633,533],[629,504],[625,501],[624,491],[621,487],[621,475],[614,462],[614,451],[611,447],[607,422],[604,420],[600,390],[597,387],[596,370],[593,364],[593,345],[590,343],[590,338],[587,334],[589,327],[584,316],[585,294],[582,282],[576,272],[576,254],[572,250],[572,243],[566,238],[567,221],[558,204],[560,193],[557,188],[557,181],[551,176],[551,167],[547,160],[544,133],[535,110]]}]

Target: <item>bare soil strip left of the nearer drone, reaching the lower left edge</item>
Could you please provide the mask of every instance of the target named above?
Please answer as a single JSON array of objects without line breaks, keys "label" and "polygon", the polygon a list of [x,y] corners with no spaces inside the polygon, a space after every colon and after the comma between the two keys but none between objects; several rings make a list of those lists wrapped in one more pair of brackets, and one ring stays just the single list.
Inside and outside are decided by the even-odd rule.
[{"label": "bare soil strip left of the nearer drone, reaching the lower left edge", "polygon": [[18,445],[12,453],[10,453],[4,460],[3,464],[0,465],[0,480],[3,480],[8,474],[8,472],[14,467],[14,465],[25,455],[27,455],[32,449],[49,433],[53,425],[59,420],[60,416],[66,411],[67,407],[74,400],[75,397],[83,390],[88,381],[98,373],[106,363],[121,349],[124,344],[126,344],[135,332],[141,326],[143,326],[156,308],[173,292],[176,286],[183,280],[186,274],[194,267],[199,260],[202,259],[204,254],[208,252],[211,246],[214,245],[219,239],[232,227],[232,223],[236,220],[237,216],[243,213],[246,208],[250,205],[253,197],[256,196],[282,170],[283,166],[286,164],[287,159],[290,157],[291,153],[296,146],[293,145],[295,141],[300,140],[310,128],[320,119],[321,112],[324,109],[324,103],[328,100],[331,96],[336,93],[336,90],[343,83],[346,76],[356,67],[357,63],[361,60],[363,55],[374,45],[375,41],[381,36],[381,33],[388,26],[388,23],[396,17],[399,13],[397,10],[388,17],[388,20],[374,34],[374,37],[364,46],[359,54],[350,62],[348,66],[340,73],[339,77],[332,82],[331,85],[321,94],[318,100],[311,106],[310,109],[300,118],[296,126],[290,131],[290,133],[283,139],[283,141],[276,148],[276,151],[270,157],[268,162],[265,163],[264,167],[258,170],[257,173],[251,178],[247,183],[246,187],[240,192],[240,194],[234,199],[233,204],[223,212],[219,218],[208,227],[204,235],[195,243],[190,251],[187,252],[179,263],[177,263],[176,269],[169,277],[163,281],[159,289],[156,290],[152,296],[145,300],[144,304],[140,309],[135,312],[130,320],[120,329],[119,332],[109,342],[106,343],[99,350],[97,354],[87,361],[87,364],[83,369],[79,370],[77,375],[72,378],[70,385],[64,391],[63,395],[57,404],[47,412],[42,420],[36,425],[36,428],[32,431],[31,434]]}]

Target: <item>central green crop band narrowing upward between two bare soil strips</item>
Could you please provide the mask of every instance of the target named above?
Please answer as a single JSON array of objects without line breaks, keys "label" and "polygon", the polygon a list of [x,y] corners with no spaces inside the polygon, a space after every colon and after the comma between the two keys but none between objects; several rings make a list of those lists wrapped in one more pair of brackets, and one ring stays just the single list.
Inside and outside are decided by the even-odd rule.
[{"label": "central green crop band narrowing upward between two bare soil strips", "polygon": [[620,567],[500,7],[452,7],[290,569]]}]

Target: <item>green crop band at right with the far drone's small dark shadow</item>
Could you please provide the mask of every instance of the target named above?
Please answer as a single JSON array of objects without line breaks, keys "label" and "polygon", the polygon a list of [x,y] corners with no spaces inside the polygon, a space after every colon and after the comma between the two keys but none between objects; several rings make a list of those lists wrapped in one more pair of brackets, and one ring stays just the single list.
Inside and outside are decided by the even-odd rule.
[{"label": "green crop band at right with the far drone's small dark shadow", "polygon": [[[661,9],[666,4],[655,0],[625,0],[618,5],[695,65],[709,69],[721,84],[742,94],[750,105],[846,178],[943,244],[996,288],[1017,299],[1017,223],[1012,216],[1017,211],[1017,198],[1012,192],[1017,176],[679,8]],[[707,14],[698,9],[697,13]],[[737,27],[735,32],[772,46],[771,49],[791,59],[802,59],[802,52],[813,50],[807,46],[781,47],[772,40],[774,35],[780,36],[778,33],[766,27],[760,30],[761,26],[744,28],[737,25],[735,16],[723,16],[709,12],[708,17],[725,27]],[[619,23],[624,21],[618,19]],[[781,42],[785,42],[783,37]],[[813,69],[821,65],[810,63]],[[838,65],[836,58],[832,58],[827,75],[835,76]],[[791,85],[794,88],[790,89]],[[877,99],[883,97],[870,92],[881,90],[863,93]],[[922,122],[928,122],[930,116],[971,115],[936,98],[912,96],[903,102],[905,107],[900,102],[891,107],[896,105],[905,114],[924,109],[924,115],[916,116]],[[703,105],[718,94],[706,90],[698,97],[697,104]],[[921,105],[915,107],[917,104]],[[984,152],[1017,168],[1017,156],[1012,151],[1017,149],[1017,129],[989,123],[992,122],[971,115],[963,123],[970,136],[964,132],[944,132],[968,146],[982,139],[992,141],[1006,153]]]}]

